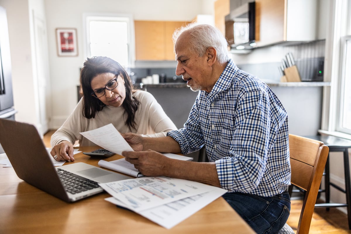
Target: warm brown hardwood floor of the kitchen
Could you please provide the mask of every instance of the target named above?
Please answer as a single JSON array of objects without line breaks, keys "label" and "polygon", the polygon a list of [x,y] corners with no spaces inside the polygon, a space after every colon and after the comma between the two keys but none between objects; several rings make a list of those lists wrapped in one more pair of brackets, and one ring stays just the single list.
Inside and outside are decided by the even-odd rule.
[{"label": "warm brown hardwood floor of the kitchen", "polygon": [[[50,137],[55,130],[49,131],[44,135],[43,141],[46,147],[50,146]],[[291,200],[290,216],[287,223],[292,227],[296,233],[297,225],[300,218],[302,208],[302,200],[293,198]],[[347,215],[340,212],[336,208],[330,208],[326,211],[325,208],[314,209],[312,222],[310,227],[310,234],[344,234],[350,233]]]}]

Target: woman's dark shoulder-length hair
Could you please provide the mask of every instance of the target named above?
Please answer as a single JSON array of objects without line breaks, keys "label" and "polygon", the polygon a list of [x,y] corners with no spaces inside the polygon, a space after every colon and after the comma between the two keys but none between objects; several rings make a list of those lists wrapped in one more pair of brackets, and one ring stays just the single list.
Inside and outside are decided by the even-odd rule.
[{"label": "woman's dark shoulder-length hair", "polygon": [[[123,67],[113,59],[107,57],[92,57],[87,58],[84,62],[84,67],[80,70],[80,94],[83,97],[83,116],[91,119],[95,118],[95,114],[104,108],[98,98],[91,95],[93,92],[91,88],[92,79],[102,73],[113,73],[122,74],[124,79],[124,85],[126,87],[126,97],[122,103],[125,111],[127,112],[127,120],[125,121],[129,129],[135,129],[135,112],[137,112],[139,106],[139,100],[133,97],[133,93],[136,91],[133,87],[132,81],[128,76],[127,72]],[[111,116],[113,118],[113,116]]]}]

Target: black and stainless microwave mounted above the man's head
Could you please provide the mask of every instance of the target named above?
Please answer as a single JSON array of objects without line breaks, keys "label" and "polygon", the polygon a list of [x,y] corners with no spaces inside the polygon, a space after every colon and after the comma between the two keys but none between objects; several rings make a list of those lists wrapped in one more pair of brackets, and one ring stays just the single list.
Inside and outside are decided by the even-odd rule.
[{"label": "black and stainless microwave mounted above the man's head", "polygon": [[255,2],[243,4],[225,16],[225,37],[231,47],[256,46]]}]

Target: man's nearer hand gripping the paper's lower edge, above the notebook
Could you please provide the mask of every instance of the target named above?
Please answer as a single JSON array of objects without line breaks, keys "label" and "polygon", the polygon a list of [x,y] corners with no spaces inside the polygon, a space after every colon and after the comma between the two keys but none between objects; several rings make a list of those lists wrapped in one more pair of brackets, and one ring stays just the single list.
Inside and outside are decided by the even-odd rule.
[{"label": "man's nearer hand gripping the paper's lower edge, above the notebook", "polygon": [[170,159],[161,153],[152,150],[148,151],[124,151],[126,161],[134,164],[143,175],[161,176],[165,175],[167,165],[170,165]]}]

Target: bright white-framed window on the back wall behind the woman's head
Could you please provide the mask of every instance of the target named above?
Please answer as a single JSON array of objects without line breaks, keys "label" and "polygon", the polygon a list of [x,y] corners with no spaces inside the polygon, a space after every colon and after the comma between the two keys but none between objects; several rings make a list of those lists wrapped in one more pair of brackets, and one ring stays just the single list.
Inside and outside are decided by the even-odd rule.
[{"label": "bright white-framed window on the back wall behind the woman's head", "polygon": [[131,16],[85,15],[86,55],[106,56],[122,67],[134,66],[134,24]]}]

